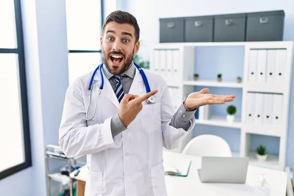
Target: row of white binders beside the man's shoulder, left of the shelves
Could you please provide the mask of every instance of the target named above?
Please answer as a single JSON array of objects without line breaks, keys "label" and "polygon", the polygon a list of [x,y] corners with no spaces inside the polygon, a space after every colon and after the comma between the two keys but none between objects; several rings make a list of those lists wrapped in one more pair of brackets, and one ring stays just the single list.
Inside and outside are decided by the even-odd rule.
[{"label": "row of white binders beside the man's shoulder, left of the shelves", "polygon": [[166,80],[178,78],[179,54],[178,49],[153,50],[154,73],[161,75]]}]

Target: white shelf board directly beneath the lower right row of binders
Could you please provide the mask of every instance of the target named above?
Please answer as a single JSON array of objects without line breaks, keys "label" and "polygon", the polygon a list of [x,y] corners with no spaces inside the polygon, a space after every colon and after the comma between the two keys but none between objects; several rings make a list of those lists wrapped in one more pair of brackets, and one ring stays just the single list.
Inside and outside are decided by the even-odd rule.
[{"label": "white shelf board directly beneath the lower right row of binders", "polygon": [[275,137],[281,137],[283,135],[281,130],[284,130],[284,128],[277,125],[244,124],[243,127],[246,133]]}]

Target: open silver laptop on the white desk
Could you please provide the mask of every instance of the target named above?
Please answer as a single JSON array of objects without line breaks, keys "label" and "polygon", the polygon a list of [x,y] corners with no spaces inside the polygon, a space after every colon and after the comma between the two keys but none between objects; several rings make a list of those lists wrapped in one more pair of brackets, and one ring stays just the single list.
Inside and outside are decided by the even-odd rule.
[{"label": "open silver laptop on the white desk", "polygon": [[202,157],[198,175],[201,182],[245,183],[248,157]]}]

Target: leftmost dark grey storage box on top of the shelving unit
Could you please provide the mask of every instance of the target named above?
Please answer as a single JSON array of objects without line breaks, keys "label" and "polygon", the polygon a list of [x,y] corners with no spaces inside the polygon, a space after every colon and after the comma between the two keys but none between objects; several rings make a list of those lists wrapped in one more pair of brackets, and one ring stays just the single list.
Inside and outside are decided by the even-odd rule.
[{"label": "leftmost dark grey storage box on top of the shelving unit", "polygon": [[159,42],[184,42],[184,18],[159,19]]}]

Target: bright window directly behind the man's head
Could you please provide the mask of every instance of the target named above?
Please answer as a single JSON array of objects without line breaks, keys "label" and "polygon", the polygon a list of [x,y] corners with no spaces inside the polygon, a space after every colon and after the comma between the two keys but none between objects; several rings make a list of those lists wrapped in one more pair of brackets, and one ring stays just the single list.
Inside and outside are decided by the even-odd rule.
[{"label": "bright window directly behind the man's head", "polygon": [[89,73],[102,62],[102,0],[66,0],[69,81]]}]

